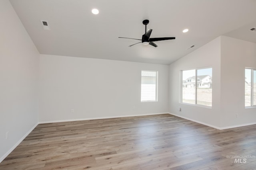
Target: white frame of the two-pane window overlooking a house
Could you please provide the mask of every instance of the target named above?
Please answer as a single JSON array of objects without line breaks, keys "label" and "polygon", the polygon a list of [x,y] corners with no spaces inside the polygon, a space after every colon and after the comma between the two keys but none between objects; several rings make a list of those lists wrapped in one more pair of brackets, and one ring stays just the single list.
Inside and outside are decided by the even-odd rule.
[{"label": "white frame of the two-pane window overlooking a house", "polygon": [[[202,67],[202,68],[190,68],[190,69],[186,69],[186,70],[195,70],[195,104],[190,104],[190,103],[184,103],[183,102],[183,71],[186,70],[180,70],[181,71],[181,98],[180,98],[180,103],[181,104],[186,104],[186,105],[191,105],[191,106],[198,106],[198,107],[206,107],[206,108],[212,108],[213,106],[213,102],[212,102],[212,106],[206,106],[206,105],[202,105],[202,104],[197,104],[197,85],[198,85],[198,81],[197,80],[197,70],[202,70],[202,69],[207,69],[207,68],[212,68],[212,66],[208,66],[208,67]],[[213,70],[213,68],[212,68]],[[213,72],[212,72],[213,73]]]}]

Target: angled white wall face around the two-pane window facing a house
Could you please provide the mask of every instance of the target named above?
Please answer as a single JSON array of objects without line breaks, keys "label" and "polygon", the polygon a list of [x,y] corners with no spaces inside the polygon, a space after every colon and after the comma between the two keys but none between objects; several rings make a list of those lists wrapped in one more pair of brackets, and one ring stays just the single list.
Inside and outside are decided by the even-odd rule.
[{"label": "angled white wall face around the two-pane window facing a house", "polygon": [[[182,104],[181,71],[212,67],[212,108]],[[220,37],[170,64],[169,112],[213,127],[220,126]],[[181,111],[178,111],[181,107]]]}]

